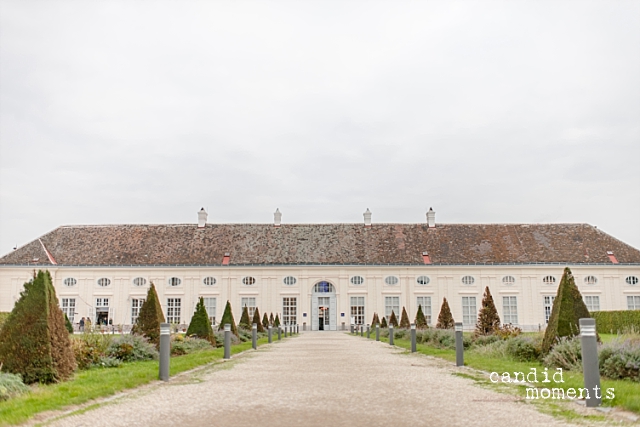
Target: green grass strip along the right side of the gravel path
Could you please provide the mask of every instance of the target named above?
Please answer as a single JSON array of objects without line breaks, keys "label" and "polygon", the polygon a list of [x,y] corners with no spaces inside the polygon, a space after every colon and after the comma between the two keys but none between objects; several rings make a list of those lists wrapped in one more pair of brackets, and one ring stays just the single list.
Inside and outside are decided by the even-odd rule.
[{"label": "green grass strip along the right side of the gravel path", "polygon": [[[605,340],[605,337],[607,340],[611,340],[615,336],[616,335],[609,337],[608,335],[601,335],[603,341]],[[382,338],[380,340],[383,341]],[[389,341],[388,339],[384,339],[383,342]],[[409,340],[396,338],[394,340],[394,344],[398,347],[406,348],[407,350],[411,348],[411,341]],[[434,348],[424,344],[418,344],[416,349],[419,353],[426,354],[428,356],[439,357],[452,363],[455,363],[456,361],[455,350]],[[510,359],[491,358],[476,354],[473,352],[473,349],[465,351],[464,364],[465,366],[469,366],[474,369],[487,372],[498,372],[499,374],[502,374],[503,372],[524,372],[526,374],[527,372],[530,372],[531,368],[537,368],[538,380],[540,381],[540,371],[544,370],[544,366],[540,362],[516,362]],[[552,387],[563,388],[565,391],[568,388],[577,389],[584,387],[584,378],[582,373],[564,371],[563,374],[564,383],[551,383]],[[627,380],[608,380],[605,378],[601,378],[600,383],[603,390],[608,388],[613,388],[615,390],[615,398],[611,400],[603,399],[603,406],[617,406],[632,412],[640,413],[640,383]],[[525,397],[524,393],[525,392],[522,391],[521,397]]]}]

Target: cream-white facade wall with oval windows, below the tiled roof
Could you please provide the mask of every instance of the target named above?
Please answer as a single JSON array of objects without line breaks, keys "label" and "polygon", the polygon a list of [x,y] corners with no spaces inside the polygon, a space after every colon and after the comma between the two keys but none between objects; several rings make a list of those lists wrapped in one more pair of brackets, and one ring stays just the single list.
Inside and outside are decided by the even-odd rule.
[{"label": "cream-white facade wall with oval windows, below the tiled roof", "polygon": [[[590,310],[640,308],[639,265],[568,266]],[[443,298],[447,298],[454,319],[472,329],[488,286],[503,323],[537,330],[546,324],[545,310],[550,310],[550,297],[556,294],[564,267],[0,266],[0,311],[11,311],[23,284],[33,276],[34,269],[41,268],[51,273],[60,304],[76,324],[81,317],[89,317],[94,324],[109,319],[113,325],[128,329],[153,282],[168,321],[180,324],[188,324],[197,299],[204,297],[210,311],[215,306],[215,313],[210,315],[216,321],[229,300],[236,321],[244,304],[251,307],[255,303],[261,316],[279,314],[283,321],[309,330],[346,328],[352,320],[367,324],[374,312],[380,319],[388,318],[391,309],[399,319],[403,307],[413,321],[418,304],[423,305],[425,314],[430,314],[430,324],[435,325]],[[555,282],[545,281],[549,276]],[[321,282],[331,284],[335,294],[314,293],[314,286]],[[321,299],[327,297],[330,299]],[[322,310],[324,306],[326,311]],[[327,311],[326,318],[319,320]],[[323,321],[325,328],[320,327]]]}]

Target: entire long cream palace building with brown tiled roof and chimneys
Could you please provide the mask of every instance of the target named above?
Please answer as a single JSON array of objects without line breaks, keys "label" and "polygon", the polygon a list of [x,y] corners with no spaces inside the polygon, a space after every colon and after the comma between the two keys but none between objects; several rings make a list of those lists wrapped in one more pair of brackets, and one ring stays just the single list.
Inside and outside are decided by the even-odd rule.
[{"label": "entire long cream palace building with brown tiled roof and chimneys", "polygon": [[50,271],[72,322],[127,330],[153,282],[168,322],[204,297],[212,322],[229,300],[306,330],[370,323],[374,312],[434,325],[447,298],[476,322],[486,286],[503,323],[544,328],[565,266],[589,310],[640,309],[640,251],[587,224],[211,224],[62,226],[0,258],[0,311],[33,271]]}]

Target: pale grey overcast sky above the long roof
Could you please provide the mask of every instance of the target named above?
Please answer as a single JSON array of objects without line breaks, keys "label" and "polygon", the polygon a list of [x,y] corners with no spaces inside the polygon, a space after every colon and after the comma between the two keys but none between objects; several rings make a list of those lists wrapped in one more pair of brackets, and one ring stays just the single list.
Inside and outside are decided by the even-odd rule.
[{"label": "pale grey overcast sky above the long roof", "polygon": [[203,206],[640,248],[639,76],[640,0],[0,0],[0,254]]}]

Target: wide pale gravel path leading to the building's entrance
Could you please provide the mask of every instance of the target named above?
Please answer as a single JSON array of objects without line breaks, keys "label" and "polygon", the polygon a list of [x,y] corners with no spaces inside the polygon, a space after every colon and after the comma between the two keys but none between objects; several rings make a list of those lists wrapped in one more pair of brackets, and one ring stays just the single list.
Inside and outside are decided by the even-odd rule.
[{"label": "wide pale gravel path leading to the building's entrance", "polygon": [[451,375],[439,360],[401,352],[344,333],[301,334],[52,425],[566,425]]}]

